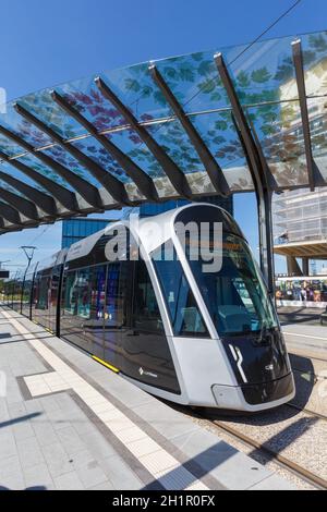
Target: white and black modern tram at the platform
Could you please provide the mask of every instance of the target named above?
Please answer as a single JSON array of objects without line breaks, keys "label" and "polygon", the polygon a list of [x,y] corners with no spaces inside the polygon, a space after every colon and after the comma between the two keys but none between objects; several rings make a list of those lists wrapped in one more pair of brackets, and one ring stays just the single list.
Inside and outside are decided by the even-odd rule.
[{"label": "white and black modern tram at the platform", "polygon": [[[207,229],[194,242],[179,228],[190,223],[198,233],[219,224],[221,241]],[[126,241],[120,253],[117,240]],[[210,268],[218,249],[219,269]],[[258,412],[294,397],[261,271],[234,219],[215,205],[110,224],[38,264],[25,277],[21,307],[123,378],[175,403]]]}]

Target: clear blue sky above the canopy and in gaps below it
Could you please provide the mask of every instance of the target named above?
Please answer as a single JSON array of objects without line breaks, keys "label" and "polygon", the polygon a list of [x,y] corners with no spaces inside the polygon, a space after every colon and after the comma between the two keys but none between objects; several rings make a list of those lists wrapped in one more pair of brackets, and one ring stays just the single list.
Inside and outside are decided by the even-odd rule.
[{"label": "clear blue sky above the canopy and in gaps below it", "polygon": [[[0,86],[8,100],[97,71],[250,42],[294,0],[2,0]],[[326,29],[326,0],[302,2],[266,37]],[[246,215],[244,215],[246,212]],[[111,214],[109,214],[111,215]],[[235,196],[235,218],[257,248],[253,195]],[[60,247],[61,224],[0,237],[0,260],[24,264]],[[277,270],[282,266],[277,261]]]}]

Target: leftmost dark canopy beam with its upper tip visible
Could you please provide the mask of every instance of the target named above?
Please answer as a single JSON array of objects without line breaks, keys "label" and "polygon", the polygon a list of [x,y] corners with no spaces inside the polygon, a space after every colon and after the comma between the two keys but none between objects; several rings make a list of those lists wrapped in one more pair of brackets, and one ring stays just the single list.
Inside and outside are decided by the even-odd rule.
[{"label": "leftmost dark canopy beam with its upper tip visible", "polygon": [[[41,132],[46,133],[52,141],[55,141],[62,149],[68,151],[73,158],[75,158],[85,169],[89,171],[89,173],[109,192],[113,200],[116,200],[119,204],[129,204],[129,196],[125,191],[125,187],[121,181],[119,181],[117,178],[114,178],[110,172],[106,171],[101,166],[99,166],[97,162],[95,162],[92,158],[89,158],[87,155],[84,155],[78,148],[73,146],[71,143],[65,142],[58,133],[56,133],[51,127],[49,127],[47,124],[45,124],[43,121],[40,121],[38,118],[33,115],[28,110],[26,110],[24,107],[22,107],[19,103],[15,103],[14,106],[16,112],[22,115],[24,119],[26,119],[31,124],[36,126],[38,130]],[[81,180],[80,176],[74,174],[76,178]],[[84,183],[85,180],[83,180]],[[89,183],[87,183],[88,186]],[[100,196],[96,187],[94,187],[94,191],[97,192],[97,207],[99,207],[100,204]],[[82,194],[81,194],[82,195]],[[88,203],[88,200],[87,200]],[[92,203],[90,203],[92,204]],[[95,205],[93,205],[95,206]]]}]

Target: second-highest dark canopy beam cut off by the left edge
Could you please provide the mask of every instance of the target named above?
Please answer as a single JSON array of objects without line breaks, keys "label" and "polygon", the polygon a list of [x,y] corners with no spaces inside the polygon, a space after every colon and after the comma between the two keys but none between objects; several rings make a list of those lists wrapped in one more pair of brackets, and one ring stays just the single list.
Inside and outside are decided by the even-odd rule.
[{"label": "second-highest dark canopy beam cut off by the left edge", "polygon": [[69,211],[78,212],[76,196],[73,192],[68,191],[55,181],[49,180],[49,178],[44,176],[39,172],[36,172],[34,169],[25,166],[25,163],[22,163],[20,160],[11,160],[4,153],[0,151],[0,159],[23,172],[23,174],[31,178],[31,180],[35,181],[38,185],[41,185]]}]

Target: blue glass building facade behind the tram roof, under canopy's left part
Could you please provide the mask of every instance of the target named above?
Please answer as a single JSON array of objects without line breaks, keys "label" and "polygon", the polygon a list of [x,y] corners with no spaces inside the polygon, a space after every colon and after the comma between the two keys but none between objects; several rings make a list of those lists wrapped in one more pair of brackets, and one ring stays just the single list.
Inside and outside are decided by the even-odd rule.
[{"label": "blue glass building facade behind the tram roof, under canopy's left part", "polygon": [[75,242],[101,231],[110,223],[109,219],[70,219],[62,221],[61,248],[69,248]]}]

